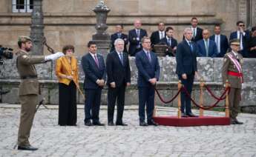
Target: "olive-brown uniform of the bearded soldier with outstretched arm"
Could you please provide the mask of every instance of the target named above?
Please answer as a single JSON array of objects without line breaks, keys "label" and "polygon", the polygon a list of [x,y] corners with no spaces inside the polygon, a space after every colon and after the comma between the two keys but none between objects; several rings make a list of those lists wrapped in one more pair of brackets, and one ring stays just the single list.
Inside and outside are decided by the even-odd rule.
[{"label": "olive-brown uniform of the bearded soldier with outstretched arm", "polygon": [[17,56],[16,64],[22,80],[21,84],[19,84],[19,99],[22,104],[22,110],[18,145],[24,147],[30,146],[28,138],[30,137],[30,129],[33,124],[39,95],[39,81],[34,64],[45,63],[45,56],[30,56],[24,50],[19,50]]}]

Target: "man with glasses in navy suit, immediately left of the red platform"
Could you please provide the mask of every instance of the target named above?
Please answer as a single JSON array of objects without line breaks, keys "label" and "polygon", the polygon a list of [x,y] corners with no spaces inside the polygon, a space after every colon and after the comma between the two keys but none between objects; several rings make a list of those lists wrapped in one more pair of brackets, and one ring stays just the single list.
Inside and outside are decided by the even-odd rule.
[{"label": "man with glasses in navy suit, immediately left of the red platform", "polygon": [[[142,47],[143,49],[136,54],[135,59],[138,69],[140,126],[157,126],[152,116],[154,112],[154,85],[160,76],[160,65],[156,54],[151,51],[150,38],[144,37],[142,39]],[[148,123],[145,123],[145,106]]]}]

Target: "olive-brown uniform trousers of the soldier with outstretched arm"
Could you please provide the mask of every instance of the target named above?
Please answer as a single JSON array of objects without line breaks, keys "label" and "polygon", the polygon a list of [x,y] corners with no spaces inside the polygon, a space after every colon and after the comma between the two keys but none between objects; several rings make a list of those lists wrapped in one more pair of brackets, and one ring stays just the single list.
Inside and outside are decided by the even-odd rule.
[{"label": "olive-brown uniform trousers of the soldier with outstretched arm", "polygon": [[33,124],[33,118],[36,113],[36,104],[38,103],[38,95],[30,94],[19,96],[22,104],[21,116],[19,122],[18,146],[29,146],[30,130]]}]

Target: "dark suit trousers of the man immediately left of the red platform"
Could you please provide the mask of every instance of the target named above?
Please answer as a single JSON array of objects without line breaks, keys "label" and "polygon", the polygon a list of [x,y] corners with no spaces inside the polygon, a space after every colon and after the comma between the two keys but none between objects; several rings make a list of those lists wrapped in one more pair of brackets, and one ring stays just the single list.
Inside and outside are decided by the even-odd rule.
[{"label": "dark suit trousers of the man immediately left of the red platform", "polygon": [[145,106],[147,120],[151,121],[154,113],[154,86],[139,88],[139,116],[140,121],[145,121]]}]

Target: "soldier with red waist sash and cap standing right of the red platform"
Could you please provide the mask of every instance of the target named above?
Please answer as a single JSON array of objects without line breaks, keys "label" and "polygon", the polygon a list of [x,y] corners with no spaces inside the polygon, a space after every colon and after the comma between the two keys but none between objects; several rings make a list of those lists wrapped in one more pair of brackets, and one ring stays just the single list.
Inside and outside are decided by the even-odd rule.
[{"label": "soldier with red waist sash and cap standing right of the red platform", "polygon": [[240,50],[239,39],[230,41],[231,52],[224,56],[222,69],[223,84],[229,82],[229,115],[231,124],[243,124],[237,121],[237,115],[240,112],[239,102],[241,98],[241,88],[243,85],[243,57],[238,53]]}]

